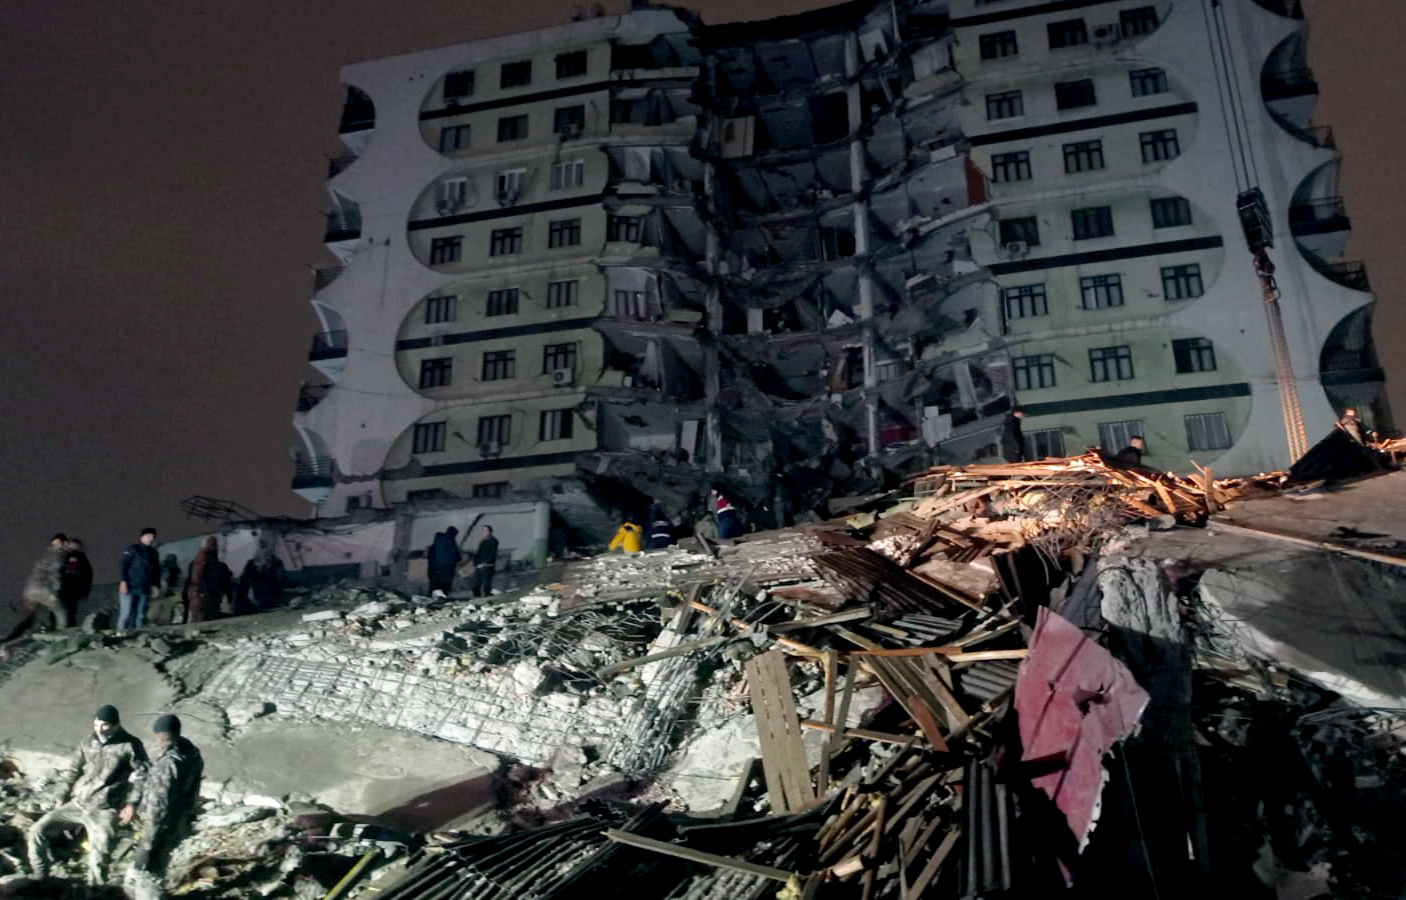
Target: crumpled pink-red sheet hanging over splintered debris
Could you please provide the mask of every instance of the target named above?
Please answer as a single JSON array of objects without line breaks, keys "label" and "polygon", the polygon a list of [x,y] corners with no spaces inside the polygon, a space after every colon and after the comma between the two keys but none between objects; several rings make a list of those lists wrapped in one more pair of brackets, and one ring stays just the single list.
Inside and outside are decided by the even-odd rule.
[{"label": "crumpled pink-red sheet hanging over splintered debris", "polygon": [[1149,700],[1126,665],[1067,619],[1040,609],[1015,681],[1021,759],[1053,769],[1031,782],[1064,813],[1080,851],[1098,817],[1104,754],[1133,733]]}]

